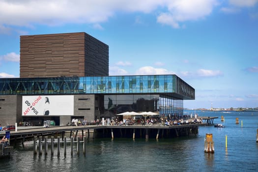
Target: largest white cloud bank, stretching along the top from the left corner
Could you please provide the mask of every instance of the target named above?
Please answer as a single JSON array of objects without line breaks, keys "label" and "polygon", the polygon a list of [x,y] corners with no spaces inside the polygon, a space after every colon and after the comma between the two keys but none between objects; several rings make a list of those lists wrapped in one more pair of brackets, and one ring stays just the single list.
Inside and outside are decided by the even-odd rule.
[{"label": "largest white cloud bank, stretching along the top from the left corner", "polygon": [[[117,12],[158,13],[165,9],[157,22],[179,28],[179,22],[209,15],[216,4],[217,0],[0,0],[0,26],[8,30],[8,26],[83,23],[102,29],[100,23]],[[137,17],[136,23],[142,23],[141,18]]]}]

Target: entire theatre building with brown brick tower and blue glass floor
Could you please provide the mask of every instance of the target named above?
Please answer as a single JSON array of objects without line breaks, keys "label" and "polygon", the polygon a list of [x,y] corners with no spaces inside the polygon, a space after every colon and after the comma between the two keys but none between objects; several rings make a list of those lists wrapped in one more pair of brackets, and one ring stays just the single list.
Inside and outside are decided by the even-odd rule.
[{"label": "entire theatre building with brown brick tower and blue glass floor", "polygon": [[109,76],[109,47],[86,34],[20,38],[20,78],[0,79],[0,123],[65,125],[123,112],[182,116],[195,89],[176,75]]}]

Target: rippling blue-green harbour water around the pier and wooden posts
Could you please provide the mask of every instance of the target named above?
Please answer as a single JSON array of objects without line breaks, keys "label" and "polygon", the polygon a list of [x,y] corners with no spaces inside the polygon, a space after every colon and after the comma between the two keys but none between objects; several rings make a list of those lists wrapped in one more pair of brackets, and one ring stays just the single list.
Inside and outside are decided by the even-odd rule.
[{"label": "rippling blue-green harbour water around the pier and wooden posts", "polygon": [[[186,111],[218,116],[225,128],[200,126],[197,136],[173,139],[89,139],[86,156],[67,151],[33,155],[33,142],[16,145],[10,159],[0,160],[0,172],[257,172],[258,112]],[[188,115],[187,114],[187,115]],[[221,116],[225,121],[221,121]],[[235,123],[236,117],[239,124]],[[215,153],[204,153],[204,138],[213,135]],[[226,135],[228,148],[226,149]],[[67,147],[67,150],[69,148]],[[76,148],[75,148],[76,149]]]}]

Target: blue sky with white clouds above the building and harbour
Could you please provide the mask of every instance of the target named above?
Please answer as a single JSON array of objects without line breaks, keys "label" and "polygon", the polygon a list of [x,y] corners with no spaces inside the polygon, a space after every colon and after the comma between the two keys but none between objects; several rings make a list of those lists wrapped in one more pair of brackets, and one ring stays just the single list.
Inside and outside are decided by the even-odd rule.
[{"label": "blue sky with white clouds above the building and harbour", "polygon": [[20,36],[86,32],[109,75],[175,74],[184,108],[258,107],[258,0],[0,0],[0,78],[20,76]]}]

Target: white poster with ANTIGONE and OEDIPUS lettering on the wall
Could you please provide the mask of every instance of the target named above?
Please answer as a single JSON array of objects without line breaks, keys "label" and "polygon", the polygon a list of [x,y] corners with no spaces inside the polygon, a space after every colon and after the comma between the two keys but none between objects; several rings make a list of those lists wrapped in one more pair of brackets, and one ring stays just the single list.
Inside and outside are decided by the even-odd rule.
[{"label": "white poster with ANTIGONE and OEDIPUS lettering on the wall", "polygon": [[73,95],[23,96],[23,116],[74,115]]}]

